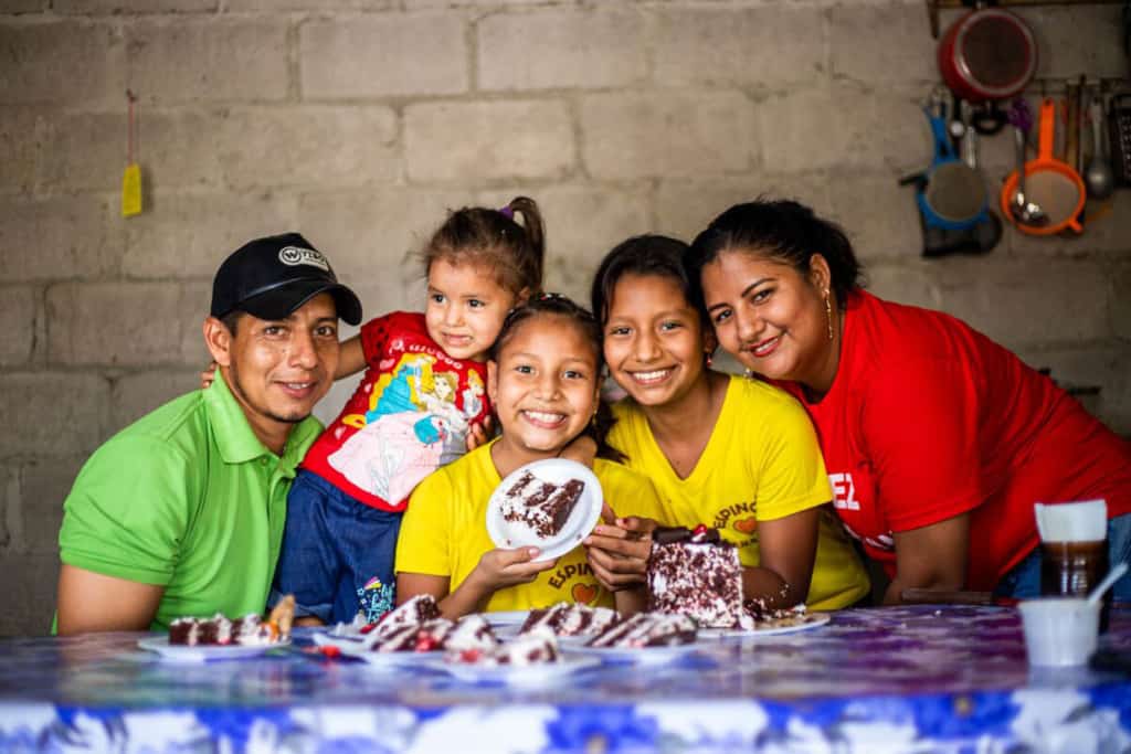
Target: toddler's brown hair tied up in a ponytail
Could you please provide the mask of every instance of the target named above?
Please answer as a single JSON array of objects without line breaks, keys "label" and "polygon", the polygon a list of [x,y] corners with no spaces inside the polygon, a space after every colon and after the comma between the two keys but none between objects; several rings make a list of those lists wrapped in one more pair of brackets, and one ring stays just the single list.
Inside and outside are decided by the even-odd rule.
[{"label": "toddler's brown hair tied up in a ponytail", "polygon": [[[523,216],[521,225],[516,215]],[[484,265],[516,296],[541,293],[545,257],[542,213],[529,197],[515,197],[500,209],[464,207],[450,213],[421,252],[425,270],[439,260]]]}]

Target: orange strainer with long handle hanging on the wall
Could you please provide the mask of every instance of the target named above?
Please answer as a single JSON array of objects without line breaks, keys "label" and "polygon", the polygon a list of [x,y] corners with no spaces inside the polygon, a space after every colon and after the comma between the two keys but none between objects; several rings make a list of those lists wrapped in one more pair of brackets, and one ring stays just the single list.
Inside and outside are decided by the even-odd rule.
[{"label": "orange strainer with long handle hanging on the wall", "polygon": [[[1080,233],[1080,213],[1083,210],[1085,189],[1079,173],[1053,156],[1056,138],[1056,103],[1046,98],[1041,105],[1041,132],[1037,158],[1025,165],[1025,194],[1041,206],[1048,217],[1047,225],[1034,226],[1017,223],[1017,228],[1029,235],[1052,235],[1064,229]],[[1011,202],[1017,193],[1018,172],[1005,179],[1001,189],[1001,209],[1011,216]]]}]

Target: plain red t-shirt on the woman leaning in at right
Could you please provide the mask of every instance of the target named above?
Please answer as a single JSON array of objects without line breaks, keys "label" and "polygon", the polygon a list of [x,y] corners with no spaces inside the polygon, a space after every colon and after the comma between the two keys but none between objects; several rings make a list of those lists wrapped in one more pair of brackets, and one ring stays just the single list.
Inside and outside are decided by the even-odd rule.
[{"label": "plain red t-shirt on the woman leaning in at right", "polygon": [[1052,380],[942,312],[851,294],[817,425],[834,505],[895,575],[892,532],[970,513],[967,587],[990,590],[1038,541],[1033,504],[1131,512],[1131,444]]}]

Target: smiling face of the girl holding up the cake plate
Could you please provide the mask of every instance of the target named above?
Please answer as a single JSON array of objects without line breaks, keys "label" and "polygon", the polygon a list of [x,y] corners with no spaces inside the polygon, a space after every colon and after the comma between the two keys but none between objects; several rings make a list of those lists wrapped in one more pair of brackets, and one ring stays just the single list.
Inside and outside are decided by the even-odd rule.
[{"label": "smiling face of the girl holding up the cake plate", "polygon": [[487,393],[509,450],[556,454],[597,410],[597,354],[581,327],[556,314],[519,323],[498,362],[487,363]]}]

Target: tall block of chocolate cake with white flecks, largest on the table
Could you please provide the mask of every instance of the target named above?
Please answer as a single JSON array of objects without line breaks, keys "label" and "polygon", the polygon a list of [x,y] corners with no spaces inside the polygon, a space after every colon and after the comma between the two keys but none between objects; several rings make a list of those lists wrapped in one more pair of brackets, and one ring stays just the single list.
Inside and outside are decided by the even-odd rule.
[{"label": "tall block of chocolate cake with white flecks, largest on the table", "polygon": [[657,529],[648,558],[648,609],[690,615],[705,629],[745,623],[737,549],[722,541],[717,529]]}]

